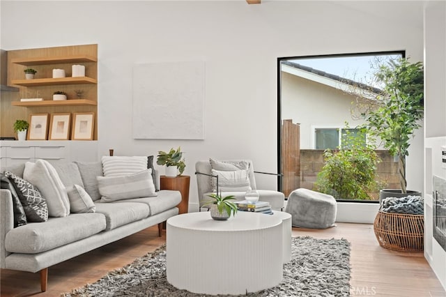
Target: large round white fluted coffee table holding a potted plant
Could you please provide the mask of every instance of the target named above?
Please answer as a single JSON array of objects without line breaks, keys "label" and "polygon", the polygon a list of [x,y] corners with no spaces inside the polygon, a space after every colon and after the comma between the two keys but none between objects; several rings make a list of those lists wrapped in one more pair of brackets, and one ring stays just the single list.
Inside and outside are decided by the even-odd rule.
[{"label": "large round white fluted coffee table holding a potted plant", "polygon": [[245,294],[282,281],[282,218],[238,211],[226,221],[209,212],[167,220],[167,281],[197,294]]}]

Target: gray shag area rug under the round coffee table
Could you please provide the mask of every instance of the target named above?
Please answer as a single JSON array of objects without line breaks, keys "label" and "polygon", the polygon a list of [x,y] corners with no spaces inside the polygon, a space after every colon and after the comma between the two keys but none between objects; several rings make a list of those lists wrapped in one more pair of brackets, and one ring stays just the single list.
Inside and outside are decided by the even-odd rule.
[{"label": "gray shag area rug under the round coffee table", "polygon": [[[350,296],[350,243],[346,239],[292,238],[291,261],[282,282],[271,289],[240,296]],[[166,279],[165,245],[71,296],[209,296],[176,289]],[[219,295],[228,296],[228,295]]]}]

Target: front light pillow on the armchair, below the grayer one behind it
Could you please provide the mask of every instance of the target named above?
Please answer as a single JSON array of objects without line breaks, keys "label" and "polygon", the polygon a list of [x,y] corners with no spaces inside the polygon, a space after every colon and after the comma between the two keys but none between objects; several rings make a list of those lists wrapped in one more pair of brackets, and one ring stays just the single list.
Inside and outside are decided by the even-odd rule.
[{"label": "front light pillow on the armchair, below the grayer one behind it", "polygon": [[[218,176],[219,192],[246,192],[251,190],[249,184],[249,170],[234,170],[231,172],[211,169],[212,175]],[[213,192],[217,187],[213,188]]]}]

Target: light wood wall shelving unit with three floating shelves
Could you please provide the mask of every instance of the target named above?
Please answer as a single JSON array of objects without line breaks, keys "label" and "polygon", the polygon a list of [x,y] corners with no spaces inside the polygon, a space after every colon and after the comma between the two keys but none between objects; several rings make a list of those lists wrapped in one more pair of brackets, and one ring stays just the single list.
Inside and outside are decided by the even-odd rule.
[{"label": "light wood wall shelving unit with three floating shelves", "polygon": [[[72,65],[85,66],[84,77],[72,77]],[[34,79],[24,79],[24,70],[37,71]],[[53,69],[65,70],[66,77],[52,78]],[[13,123],[29,119],[29,114],[93,112],[93,140],[98,139],[98,45],[70,45],[8,51],[8,86],[18,92],[3,92],[0,102],[0,135],[15,137]],[[51,100],[63,91],[68,100]],[[82,91],[82,97],[78,97]],[[20,98],[47,98],[22,102]]]}]

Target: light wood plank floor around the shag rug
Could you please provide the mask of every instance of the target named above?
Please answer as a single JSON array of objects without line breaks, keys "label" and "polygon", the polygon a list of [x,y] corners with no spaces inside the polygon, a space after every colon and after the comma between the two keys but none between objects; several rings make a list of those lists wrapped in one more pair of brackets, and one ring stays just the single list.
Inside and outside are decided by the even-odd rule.
[{"label": "light wood plank floor around the shag rug", "polygon": [[[371,224],[337,223],[337,227],[325,230],[293,228],[293,236],[346,238],[351,242],[351,296],[446,297],[422,252],[381,248]],[[0,296],[59,296],[153,252],[165,238],[165,234],[157,236],[157,227],[151,227],[52,266],[45,293],[40,293],[38,273],[2,269]]]}]

